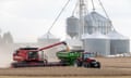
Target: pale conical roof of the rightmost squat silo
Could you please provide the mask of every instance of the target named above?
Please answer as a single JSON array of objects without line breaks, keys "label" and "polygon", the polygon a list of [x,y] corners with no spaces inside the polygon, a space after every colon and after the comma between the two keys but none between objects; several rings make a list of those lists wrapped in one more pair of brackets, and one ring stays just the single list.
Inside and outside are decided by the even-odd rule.
[{"label": "pale conical roof of the rightmost squat silo", "polygon": [[112,30],[107,35],[110,39],[129,39],[128,37],[119,34],[117,30]]}]

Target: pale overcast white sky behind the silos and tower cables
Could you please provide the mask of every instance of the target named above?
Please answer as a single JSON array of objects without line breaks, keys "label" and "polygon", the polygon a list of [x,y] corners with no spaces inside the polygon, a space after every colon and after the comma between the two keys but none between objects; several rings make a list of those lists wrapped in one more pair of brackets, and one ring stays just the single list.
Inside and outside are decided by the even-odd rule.
[{"label": "pale overcast white sky behind the silos and tower cables", "polygon": [[[68,0],[0,0],[1,35],[10,31],[15,42],[35,42],[45,35]],[[88,0],[90,1],[90,0]],[[97,0],[96,11],[105,15]],[[102,0],[114,27],[131,38],[131,0]],[[72,15],[76,0],[71,0],[51,34],[66,36],[66,18]],[[88,10],[92,6],[88,6]]]}]

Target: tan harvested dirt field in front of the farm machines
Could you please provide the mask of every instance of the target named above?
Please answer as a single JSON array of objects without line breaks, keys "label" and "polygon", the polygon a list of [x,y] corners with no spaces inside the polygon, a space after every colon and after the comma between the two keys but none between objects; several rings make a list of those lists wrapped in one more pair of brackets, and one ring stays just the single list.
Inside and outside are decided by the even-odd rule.
[{"label": "tan harvested dirt field in front of the farm machines", "polygon": [[0,78],[131,78],[131,57],[97,58],[102,68],[29,67],[0,68]]}]

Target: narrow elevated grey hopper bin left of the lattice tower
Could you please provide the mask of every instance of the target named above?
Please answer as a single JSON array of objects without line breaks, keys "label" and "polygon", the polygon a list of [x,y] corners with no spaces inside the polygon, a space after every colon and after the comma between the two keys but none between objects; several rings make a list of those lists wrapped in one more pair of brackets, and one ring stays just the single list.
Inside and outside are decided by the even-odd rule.
[{"label": "narrow elevated grey hopper bin left of the lattice tower", "polygon": [[67,34],[73,38],[79,35],[79,18],[71,16],[67,18]]}]

